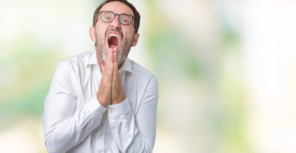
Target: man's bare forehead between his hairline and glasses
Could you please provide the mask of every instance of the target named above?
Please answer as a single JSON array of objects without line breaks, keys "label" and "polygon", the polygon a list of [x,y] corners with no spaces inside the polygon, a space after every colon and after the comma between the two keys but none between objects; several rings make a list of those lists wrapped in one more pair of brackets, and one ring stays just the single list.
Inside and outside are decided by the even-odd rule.
[{"label": "man's bare forehead between his hairline and glasses", "polygon": [[130,14],[134,16],[133,10],[126,4],[119,1],[111,1],[105,4],[100,11],[111,11],[115,14]]}]

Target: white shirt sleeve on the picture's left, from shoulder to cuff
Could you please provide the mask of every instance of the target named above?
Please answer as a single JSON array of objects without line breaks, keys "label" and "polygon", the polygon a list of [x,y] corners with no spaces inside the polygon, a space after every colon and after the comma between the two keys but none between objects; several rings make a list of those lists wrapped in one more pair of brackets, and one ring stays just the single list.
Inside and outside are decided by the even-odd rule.
[{"label": "white shirt sleeve on the picture's left, from shoulder to cuff", "polygon": [[43,124],[45,146],[49,153],[65,153],[101,123],[106,108],[93,97],[75,111],[76,96],[71,71],[62,61],[53,75],[45,98]]}]

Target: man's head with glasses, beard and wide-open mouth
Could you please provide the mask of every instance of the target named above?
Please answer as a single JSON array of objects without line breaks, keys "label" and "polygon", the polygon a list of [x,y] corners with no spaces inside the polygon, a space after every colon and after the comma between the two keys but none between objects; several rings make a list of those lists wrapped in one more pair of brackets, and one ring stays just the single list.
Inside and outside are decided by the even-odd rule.
[{"label": "man's head with glasses, beard and wide-open mouth", "polygon": [[113,48],[121,65],[138,42],[139,26],[140,14],[127,0],[106,0],[98,6],[89,35],[96,42],[99,60],[105,63],[107,51]]}]

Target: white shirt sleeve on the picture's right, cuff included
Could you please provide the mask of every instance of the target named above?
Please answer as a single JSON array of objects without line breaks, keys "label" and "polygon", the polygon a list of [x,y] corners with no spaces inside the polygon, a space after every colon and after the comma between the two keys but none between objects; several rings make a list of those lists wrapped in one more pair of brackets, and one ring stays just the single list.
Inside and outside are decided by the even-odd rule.
[{"label": "white shirt sleeve on the picture's right, cuff included", "polygon": [[158,84],[149,83],[139,110],[133,114],[128,99],[108,105],[108,118],[115,143],[122,153],[152,153],[156,135]]}]

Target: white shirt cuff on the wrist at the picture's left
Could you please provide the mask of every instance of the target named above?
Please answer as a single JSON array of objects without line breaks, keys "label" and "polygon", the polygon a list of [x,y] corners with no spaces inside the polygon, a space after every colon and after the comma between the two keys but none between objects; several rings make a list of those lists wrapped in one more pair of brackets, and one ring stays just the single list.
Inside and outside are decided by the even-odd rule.
[{"label": "white shirt cuff on the wrist at the picture's left", "polygon": [[99,103],[97,96],[94,96],[92,99],[90,99],[84,107],[90,112],[91,115],[94,115],[99,119],[102,119],[105,111],[107,110],[106,107]]}]

